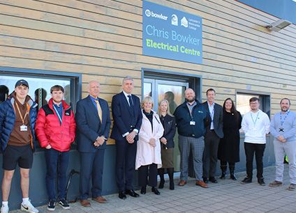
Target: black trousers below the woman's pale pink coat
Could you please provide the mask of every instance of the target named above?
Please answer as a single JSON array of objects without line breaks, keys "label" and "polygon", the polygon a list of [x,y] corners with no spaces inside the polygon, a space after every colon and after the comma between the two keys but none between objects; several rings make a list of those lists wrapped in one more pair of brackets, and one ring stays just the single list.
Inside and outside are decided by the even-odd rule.
[{"label": "black trousers below the woman's pale pink coat", "polygon": [[[156,187],[157,185],[157,164],[149,164],[138,168],[138,182],[140,187]],[[148,180],[147,180],[148,178]]]}]

